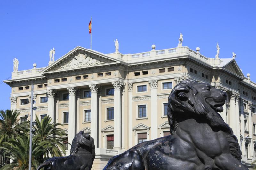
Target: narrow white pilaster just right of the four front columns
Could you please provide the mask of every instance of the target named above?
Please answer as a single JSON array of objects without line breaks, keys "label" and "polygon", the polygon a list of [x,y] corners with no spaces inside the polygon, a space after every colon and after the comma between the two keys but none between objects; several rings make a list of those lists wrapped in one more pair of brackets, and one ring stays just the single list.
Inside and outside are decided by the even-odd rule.
[{"label": "narrow white pilaster just right of the four front columns", "polygon": [[132,83],[128,83],[128,140],[129,149],[132,148]]}]

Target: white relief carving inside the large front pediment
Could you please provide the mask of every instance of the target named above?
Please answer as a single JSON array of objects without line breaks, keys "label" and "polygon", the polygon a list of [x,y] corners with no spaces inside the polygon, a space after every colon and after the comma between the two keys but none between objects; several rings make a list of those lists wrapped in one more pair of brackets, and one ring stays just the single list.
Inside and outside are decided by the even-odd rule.
[{"label": "white relief carving inside the large front pediment", "polygon": [[66,69],[72,69],[72,68],[79,68],[79,67],[85,67],[85,66],[94,66],[104,64],[104,62],[96,60],[91,58],[90,56],[87,56],[85,54],[78,54],[74,58],[72,58],[71,61],[69,61],[64,66],[61,66],[59,70],[66,70]]}]

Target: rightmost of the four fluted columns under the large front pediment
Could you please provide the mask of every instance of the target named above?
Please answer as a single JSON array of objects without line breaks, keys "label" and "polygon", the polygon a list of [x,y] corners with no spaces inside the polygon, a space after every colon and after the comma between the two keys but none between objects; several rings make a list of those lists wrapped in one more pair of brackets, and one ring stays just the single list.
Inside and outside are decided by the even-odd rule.
[{"label": "rightmost of the four fluted columns under the large front pediment", "polygon": [[121,87],[123,82],[112,82],[114,87],[114,148],[121,149]]}]

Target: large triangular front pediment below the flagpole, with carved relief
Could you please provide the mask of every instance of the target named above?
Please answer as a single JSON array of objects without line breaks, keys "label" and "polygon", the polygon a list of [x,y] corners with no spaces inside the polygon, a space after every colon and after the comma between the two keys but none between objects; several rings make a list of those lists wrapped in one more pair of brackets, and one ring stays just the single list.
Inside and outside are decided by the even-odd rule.
[{"label": "large triangular front pediment below the flagpole, with carved relief", "polygon": [[48,72],[90,68],[118,62],[118,60],[110,58],[100,52],[78,46],[44,68],[40,73],[44,74]]}]

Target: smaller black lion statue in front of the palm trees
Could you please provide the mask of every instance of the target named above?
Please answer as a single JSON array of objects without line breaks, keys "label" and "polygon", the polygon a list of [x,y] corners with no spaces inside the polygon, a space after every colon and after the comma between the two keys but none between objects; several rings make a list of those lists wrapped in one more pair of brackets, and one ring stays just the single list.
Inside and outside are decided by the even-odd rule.
[{"label": "smaller black lion statue in front of the palm trees", "polygon": [[83,131],[74,137],[70,155],[66,157],[53,157],[38,166],[37,170],[90,170],[95,158],[93,138]]}]

